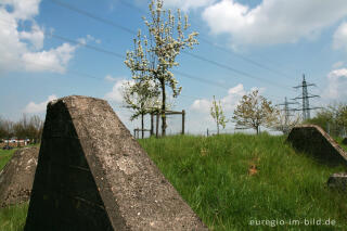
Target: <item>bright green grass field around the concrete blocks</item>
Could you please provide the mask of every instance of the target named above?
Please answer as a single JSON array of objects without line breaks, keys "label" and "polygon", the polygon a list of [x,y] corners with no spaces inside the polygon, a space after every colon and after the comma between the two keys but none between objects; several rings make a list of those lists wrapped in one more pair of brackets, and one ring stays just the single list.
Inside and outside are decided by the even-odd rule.
[{"label": "bright green grass field around the concrete blocks", "polygon": [[[210,230],[346,230],[347,195],[325,187],[346,167],[319,165],[284,140],[176,136],[140,143]],[[0,230],[22,230],[26,210],[27,204],[0,210]],[[336,224],[279,224],[305,219]]]}]

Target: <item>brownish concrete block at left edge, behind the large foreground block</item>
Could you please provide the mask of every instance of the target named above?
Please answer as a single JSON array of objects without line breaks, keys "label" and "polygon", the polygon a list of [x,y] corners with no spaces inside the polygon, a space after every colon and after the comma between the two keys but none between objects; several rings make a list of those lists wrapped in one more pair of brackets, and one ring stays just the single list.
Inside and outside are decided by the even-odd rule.
[{"label": "brownish concrete block at left edge, behind the large foreground block", "polygon": [[0,171],[0,207],[29,201],[38,154],[37,146],[13,153]]}]

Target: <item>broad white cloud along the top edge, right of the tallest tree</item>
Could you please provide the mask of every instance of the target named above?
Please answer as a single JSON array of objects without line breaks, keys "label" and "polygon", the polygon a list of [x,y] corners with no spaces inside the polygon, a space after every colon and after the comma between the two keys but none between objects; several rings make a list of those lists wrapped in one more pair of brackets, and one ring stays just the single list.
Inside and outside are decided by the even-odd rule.
[{"label": "broad white cloud along the top edge, right of the tallest tree", "polygon": [[211,33],[229,34],[233,44],[275,44],[312,39],[346,15],[346,0],[262,0],[254,9],[235,0],[222,0],[203,12]]}]

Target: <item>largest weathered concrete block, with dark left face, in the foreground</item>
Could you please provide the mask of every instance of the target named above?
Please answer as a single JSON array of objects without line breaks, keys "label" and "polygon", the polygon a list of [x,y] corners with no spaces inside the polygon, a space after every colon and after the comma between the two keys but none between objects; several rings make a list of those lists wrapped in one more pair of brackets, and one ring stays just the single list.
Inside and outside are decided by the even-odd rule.
[{"label": "largest weathered concrete block, with dark left face, in the foreground", "polygon": [[25,231],[207,230],[106,101],[48,105]]}]

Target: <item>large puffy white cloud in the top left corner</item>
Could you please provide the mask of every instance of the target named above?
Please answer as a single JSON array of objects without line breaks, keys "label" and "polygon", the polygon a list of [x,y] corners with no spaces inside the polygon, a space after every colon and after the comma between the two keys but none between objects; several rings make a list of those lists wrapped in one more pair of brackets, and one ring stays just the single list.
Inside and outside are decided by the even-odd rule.
[{"label": "large puffy white cloud in the top left corner", "polygon": [[[0,3],[0,72],[63,73],[79,46],[63,43],[42,50],[44,30],[35,21],[40,0],[3,0]],[[11,10],[8,10],[11,9]],[[22,25],[28,25],[23,30]],[[82,39],[101,42],[88,35]]]}]

